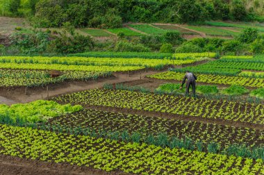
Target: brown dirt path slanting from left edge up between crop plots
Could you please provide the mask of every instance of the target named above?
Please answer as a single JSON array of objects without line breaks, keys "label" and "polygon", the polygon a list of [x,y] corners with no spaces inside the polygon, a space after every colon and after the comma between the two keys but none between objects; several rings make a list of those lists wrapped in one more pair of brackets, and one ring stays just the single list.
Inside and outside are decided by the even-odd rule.
[{"label": "brown dirt path slanting from left edge up between crop plots", "polygon": [[[86,82],[76,82],[76,83],[60,83],[58,85],[49,85],[49,97],[54,97],[60,94],[67,94],[72,92],[78,92],[82,90],[90,90],[94,88],[102,88],[105,83],[122,83],[122,82],[129,82],[140,80],[147,75],[156,74],[158,72],[155,71],[147,71],[147,72],[136,72],[134,74],[128,73],[114,73],[115,77],[110,78],[101,78],[99,80],[94,81],[86,81]],[[47,88],[35,88],[35,89],[28,89],[25,94],[26,88],[19,88],[17,90],[0,90],[0,103],[8,104],[13,103],[28,103],[31,101],[35,101],[38,99],[47,99]],[[5,98],[3,98],[5,97]]]}]

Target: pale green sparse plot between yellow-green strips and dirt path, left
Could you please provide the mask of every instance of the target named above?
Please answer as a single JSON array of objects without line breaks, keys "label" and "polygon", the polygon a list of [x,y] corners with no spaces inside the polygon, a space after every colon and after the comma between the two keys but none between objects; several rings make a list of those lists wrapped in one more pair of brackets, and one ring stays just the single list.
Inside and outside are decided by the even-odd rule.
[{"label": "pale green sparse plot between yellow-green strips and dirt path, left", "polygon": [[48,72],[36,70],[0,69],[0,87],[35,87],[62,83],[63,81],[86,81],[110,76],[110,72],[63,72],[63,76],[51,78]]}]

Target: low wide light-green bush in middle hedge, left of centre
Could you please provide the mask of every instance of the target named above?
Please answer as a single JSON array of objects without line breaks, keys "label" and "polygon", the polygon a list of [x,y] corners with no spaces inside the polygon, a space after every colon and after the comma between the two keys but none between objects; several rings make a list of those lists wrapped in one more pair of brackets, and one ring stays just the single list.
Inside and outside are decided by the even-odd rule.
[{"label": "low wide light-green bush in middle hedge, left of centre", "polygon": [[149,48],[143,44],[133,44],[131,42],[119,41],[115,45],[114,51],[135,51],[135,52],[148,52]]}]

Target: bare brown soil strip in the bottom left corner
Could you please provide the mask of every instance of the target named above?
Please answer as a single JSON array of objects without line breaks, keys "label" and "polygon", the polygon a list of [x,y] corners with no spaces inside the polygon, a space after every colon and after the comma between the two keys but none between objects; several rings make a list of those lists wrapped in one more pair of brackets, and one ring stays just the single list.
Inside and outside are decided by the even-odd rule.
[{"label": "bare brown soil strip in the bottom left corner", "polygon": [[101,169],[90,167],[79,167],[62,163],[46,163],[40,160],[30,160],[12,156],[0,155],[0,175],[105,175],[105,174],[126,174],[124,172],[105,172]]}]

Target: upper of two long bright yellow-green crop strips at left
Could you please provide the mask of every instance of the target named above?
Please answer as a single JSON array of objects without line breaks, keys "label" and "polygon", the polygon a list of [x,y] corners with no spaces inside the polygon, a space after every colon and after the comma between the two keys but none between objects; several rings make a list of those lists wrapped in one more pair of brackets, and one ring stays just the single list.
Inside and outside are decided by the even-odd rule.
[{"label": "upper of two long bright yellow-green crop strips at left", "polygon": [[[80,65],[80,66],[124,66],[156,67],[158,65],[183,65],[194,63],[199,58],[186,60],[144,59],[144,58],[84,58],[84,57],[0,57],[0,63],[47,64],[47,65]],[[110,68],[111,69],[111,68]]]}]

